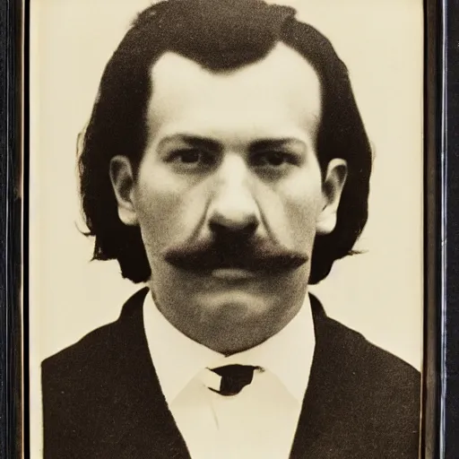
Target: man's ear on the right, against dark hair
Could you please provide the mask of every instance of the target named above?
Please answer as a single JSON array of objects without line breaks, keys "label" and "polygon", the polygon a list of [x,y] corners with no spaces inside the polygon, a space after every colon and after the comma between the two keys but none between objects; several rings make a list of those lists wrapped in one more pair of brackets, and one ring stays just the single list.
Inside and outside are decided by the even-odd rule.
[{"label": "man's ear on the right, against dark hair", "polygon": [[336,226],[336,213],[340,205],[342,189],[348,176],[345,160],[334,158],[328,163],[324,183],[322,184],[322,211],[316,221],[317,234],[330,234]]}]

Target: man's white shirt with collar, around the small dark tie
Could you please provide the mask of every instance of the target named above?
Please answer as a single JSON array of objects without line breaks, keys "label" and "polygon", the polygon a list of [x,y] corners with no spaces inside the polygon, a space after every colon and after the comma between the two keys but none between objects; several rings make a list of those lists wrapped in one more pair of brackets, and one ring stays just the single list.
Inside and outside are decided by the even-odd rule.
[{"label": "man's white shirt with collar, around the small dark tie", "polygon": [[[281,332],[225,357],[188,338],[162,316],[148,294],[146,338],[162,392],[193,459],[288,458],[307,388],[316,339],[308,296]],[[217,394],[208,368],[261,367],[233,396]]]}]

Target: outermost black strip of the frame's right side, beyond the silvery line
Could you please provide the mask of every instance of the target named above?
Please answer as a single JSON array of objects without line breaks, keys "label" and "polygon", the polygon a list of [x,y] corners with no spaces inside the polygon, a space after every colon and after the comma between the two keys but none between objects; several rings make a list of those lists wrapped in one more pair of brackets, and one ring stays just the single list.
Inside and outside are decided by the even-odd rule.
[{"label": "outermost black strip of the frame's right side, beyond the silvery line", "polygon": [[443,390],[442,447],[445,457],[459,452],[459,1],[446,3],[445,18],[445,93],[441,133],[445,145],[442,190],[445,246],[443,252],[445,301],[443,314]]}]

